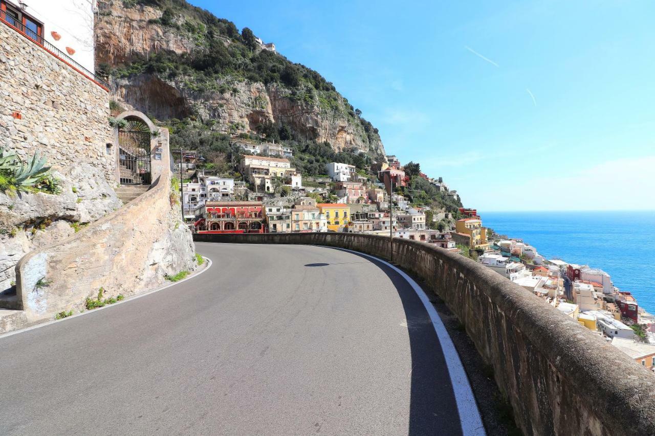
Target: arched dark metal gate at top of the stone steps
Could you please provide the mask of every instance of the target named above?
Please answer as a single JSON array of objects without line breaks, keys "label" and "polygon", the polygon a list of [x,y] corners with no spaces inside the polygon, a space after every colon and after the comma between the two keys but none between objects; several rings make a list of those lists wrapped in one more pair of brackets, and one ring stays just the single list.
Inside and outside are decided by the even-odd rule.
[{"label": "arched dark metal gate at top of the stone steps", "polygon": [[150,128],[140,121],[128,121],[119,129],[121,185],[150,185]]}]

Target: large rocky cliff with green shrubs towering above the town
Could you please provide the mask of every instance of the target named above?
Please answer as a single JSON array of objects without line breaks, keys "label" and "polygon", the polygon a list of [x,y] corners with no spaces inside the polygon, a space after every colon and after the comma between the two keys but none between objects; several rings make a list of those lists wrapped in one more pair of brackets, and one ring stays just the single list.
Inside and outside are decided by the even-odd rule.
[{"label": "large rocky cliff with green shrubs towering above the town", "polygon": [[330,82],[249,29],[180,1],[98,3],[96,62],[121,105],[164,122],[211,122],[214,132],[284,130],[335,151],[385,154],[377,129]]}]

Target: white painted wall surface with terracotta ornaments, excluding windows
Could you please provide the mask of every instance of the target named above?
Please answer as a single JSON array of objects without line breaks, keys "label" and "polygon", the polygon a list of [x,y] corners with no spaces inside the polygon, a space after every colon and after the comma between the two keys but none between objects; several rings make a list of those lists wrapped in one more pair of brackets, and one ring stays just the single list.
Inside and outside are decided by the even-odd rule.
[{"label": "white painted wall surface with terracotta ornaments, excluding windows", "polygon": [[[17,4],[18,1],[9,0]],[[43,37],[94,73],[94,11],[96,0],[24,0],[25,13],[43,23]],[[59,41],[52,32],[60,35]],[[75,50],[69,54],[66,48]]]}]

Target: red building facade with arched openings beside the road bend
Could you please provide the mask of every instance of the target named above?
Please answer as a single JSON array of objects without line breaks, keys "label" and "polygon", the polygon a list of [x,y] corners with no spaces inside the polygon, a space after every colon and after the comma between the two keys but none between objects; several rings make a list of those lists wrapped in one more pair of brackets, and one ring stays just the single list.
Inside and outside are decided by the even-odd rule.
[{"label": "red building facade with arched openings beside the road bend", "polygon": [[265,232],[261,202],[206,202],[195,225],[199,233]]}]

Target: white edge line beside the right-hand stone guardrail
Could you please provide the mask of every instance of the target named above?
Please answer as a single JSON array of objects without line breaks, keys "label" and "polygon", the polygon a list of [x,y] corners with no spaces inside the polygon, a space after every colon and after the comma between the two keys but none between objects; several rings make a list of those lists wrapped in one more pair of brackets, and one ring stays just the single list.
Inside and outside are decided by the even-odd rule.
[{"label": "white edge line beside the right-hand stone guardrail", "polygon": [[457,354],[457,350],[455,349],[455,344],[453,344],[453,340],[451,339],[450,335],[448,335],[446,327],[443,325],[441,318],[439,318],[437,310],[434,308],[434,306],[432,306],[430,299],[428,299],[428,296],[425,294],[423,289],[421,289],[421,286],[419,286],[419,284],[415,282],[413,278],[409,277],[403,270],[396,268],[396,266],[388,263],[387,261],[383,261],[383,259],[380,259],[379,257],[367,255],[366,253],[361,253],[360,251],[349,250],[346,248],[339,249],[366,256],[370,259],[375,259],[376,261],[385,264],[389,268],[392,268],[392,270],[398,272],[398,274],[400,274],[400,276],[402,276],[402,278],[404,278],[407,283],[409,283],[412,289],[414,289],[414,291],[419,296],[419,299],[421,299],[421,302],[423,303],[425,310],[428,312],[428,315],[430,315],[432,325],[434,326],[434,331],[436,332],[437,338],[441,344],[441,351],[443,351],[443,357],[446,361],[448,374],[451,378],[451,383],[453,384],[453,393],[455,393],[455,402],[457,403],[457,411],[459,413],[459,422],[462,426],[462,434],[464,436],[486,436],[487,432],[485,431],[484,424],[482,424],[480,412],[477,409],[476,397],[473,395],[473,390],[471,389],[471,385],[468,382],[468,377],[464,371],[462,361],[460,360],[459,355]]}]

